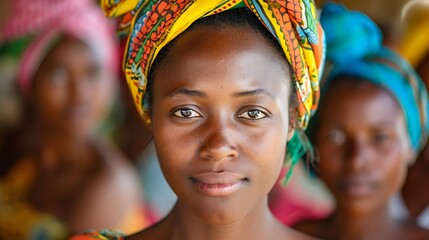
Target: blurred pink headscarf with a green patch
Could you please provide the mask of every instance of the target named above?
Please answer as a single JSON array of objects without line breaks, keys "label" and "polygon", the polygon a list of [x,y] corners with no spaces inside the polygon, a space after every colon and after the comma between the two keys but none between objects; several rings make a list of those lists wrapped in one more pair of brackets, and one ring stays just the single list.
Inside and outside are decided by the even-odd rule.
[{"label": "blurred pink headscarf with a green patch", "polygon": [[116,65],[114,27],[92,0],[14,0],[0,36],[2,58],[19,61],[24,92],[46,54],[60,37],[75,37],[96,54],[106,69]]}]

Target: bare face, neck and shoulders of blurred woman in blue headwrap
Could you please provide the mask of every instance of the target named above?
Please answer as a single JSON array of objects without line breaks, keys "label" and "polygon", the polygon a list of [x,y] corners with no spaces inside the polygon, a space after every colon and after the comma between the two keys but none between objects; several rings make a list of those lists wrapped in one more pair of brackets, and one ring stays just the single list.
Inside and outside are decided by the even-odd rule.
[{"label": "bare face, neck and shoulders of blurred woman in blue headwrap", "polygon": [[342,77],[319,110],[313,142],[337,206],[328,218],[296,229],[322,239],[428,239],[429,231],[389,215],[389,199],[414,160],[395,99],[367,81]]}]

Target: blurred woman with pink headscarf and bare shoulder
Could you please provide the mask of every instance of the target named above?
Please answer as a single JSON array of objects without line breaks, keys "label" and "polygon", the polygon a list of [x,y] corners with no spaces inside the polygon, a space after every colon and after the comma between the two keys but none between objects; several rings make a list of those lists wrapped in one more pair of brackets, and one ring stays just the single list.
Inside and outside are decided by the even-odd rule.
[{"label": "blurred woman with pink headscarf and bare shoulder", "polygon": [[1,154],[0,238],[144,227],[136,173],[98,133],[115,96],[109,23],[86,0],[12,7],[2,49],[19,60],[17,80],[30,112],[25,134],[12,136],[18,147]]}]

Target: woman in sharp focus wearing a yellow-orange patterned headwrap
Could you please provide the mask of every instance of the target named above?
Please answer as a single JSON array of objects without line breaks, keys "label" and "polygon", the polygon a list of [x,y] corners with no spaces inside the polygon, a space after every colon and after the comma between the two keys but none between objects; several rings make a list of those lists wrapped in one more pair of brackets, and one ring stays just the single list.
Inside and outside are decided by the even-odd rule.
[{"label": "woman in sharp focus wearing a yellow-orange patterned headwrap", "polygon": [[[178,197],[167,217],[127,239],[308,239],[275,219],[267,196],[285,153],[300,157],[297,132],[318,99],[313,3],[109,3],[108,15],[131,11],[125,74]],[[123,239],[73,239],[93,238]]]}]

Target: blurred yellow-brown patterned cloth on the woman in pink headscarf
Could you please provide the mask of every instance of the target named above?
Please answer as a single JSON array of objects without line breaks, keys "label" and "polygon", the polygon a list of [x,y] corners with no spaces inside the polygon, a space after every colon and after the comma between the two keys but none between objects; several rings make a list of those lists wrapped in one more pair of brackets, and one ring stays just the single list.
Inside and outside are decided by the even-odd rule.
[{"label": "blurred yellow-brown patterned cloth on the woman in pink headscarf", "polygon": [[0,179],[0,239],[64,239],[68,228],[52,215],[40,212],[28,201],[36,179],[36,163],[22,159]]}]

